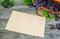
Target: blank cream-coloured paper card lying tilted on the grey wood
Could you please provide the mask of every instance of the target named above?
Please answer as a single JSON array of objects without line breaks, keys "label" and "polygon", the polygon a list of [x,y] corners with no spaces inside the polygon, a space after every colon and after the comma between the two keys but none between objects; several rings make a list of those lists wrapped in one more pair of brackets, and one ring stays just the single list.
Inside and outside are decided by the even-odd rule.
[{"label": "blank cream-coloured paper card lying tilted on the grey wood", "polygon": [[44,37],[45,18],[13,11],[5,29],[18,33]]}]

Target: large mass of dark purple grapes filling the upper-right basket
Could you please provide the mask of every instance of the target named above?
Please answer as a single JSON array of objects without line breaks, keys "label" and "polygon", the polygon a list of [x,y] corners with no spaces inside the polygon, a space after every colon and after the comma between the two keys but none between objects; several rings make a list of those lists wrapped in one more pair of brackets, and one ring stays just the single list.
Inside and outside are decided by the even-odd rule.
[{"label": "large mass of dark purple grapes filling the upper-right basket", "polygon": [[[57,6],[50,0],[34,0],[33,7],[38,9],[40,6],[49,8],[51,11],[60,11],[60,6]],[[32,5],[30,5],[32,7]]]}]

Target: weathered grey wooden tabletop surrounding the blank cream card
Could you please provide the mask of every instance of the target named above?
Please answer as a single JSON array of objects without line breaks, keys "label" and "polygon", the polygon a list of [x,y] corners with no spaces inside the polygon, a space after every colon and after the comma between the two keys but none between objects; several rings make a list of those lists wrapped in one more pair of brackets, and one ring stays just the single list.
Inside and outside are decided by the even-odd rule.
[{"label": "weathered grey wooden tabletop surrounding the blank cream card", "polygon": [[29,8],[28,6],[23,5],[22,0],[15,0],[15,6],[10,9],[6,9],[1,5],[3,1],[4,0],[0,0],[0,39],[60,39],[60,30],[50,30],[49,24],[60,23],[60,21],[55,20],[46,20],[44,38],[5,30],[5,26],[13,10],[26,12],[27,14],[37,14],[35,8]]}]

